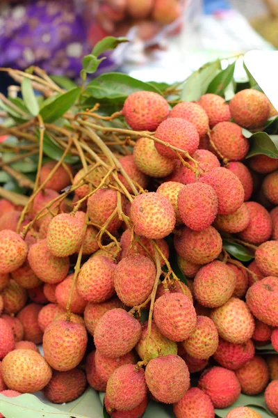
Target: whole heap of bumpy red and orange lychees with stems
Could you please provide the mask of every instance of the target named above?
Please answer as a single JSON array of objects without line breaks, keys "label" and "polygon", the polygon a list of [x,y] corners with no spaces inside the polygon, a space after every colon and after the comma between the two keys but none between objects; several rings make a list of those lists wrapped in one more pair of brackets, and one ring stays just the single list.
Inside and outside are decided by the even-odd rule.
[{"label": "whole heap of bumpy red and orange lychees with stems", "polygon": [[[245,159],[242,130],[275,114],[252,89],[172,109],[139,91],[122,109],[143,131],[119,159],[124,189],[104,167],[62,164],[24,219],[0,201],[1,394],[64,403],[90,385],[111,417],[139,418],[152,398],[177,418],[213,418],[264,392],[278,416],[278,158]],[[71,185],[73,206],[57,205]],[[240,263],[223,239],[254,259]],[[259,355],[270,341],[277,355]]]}]

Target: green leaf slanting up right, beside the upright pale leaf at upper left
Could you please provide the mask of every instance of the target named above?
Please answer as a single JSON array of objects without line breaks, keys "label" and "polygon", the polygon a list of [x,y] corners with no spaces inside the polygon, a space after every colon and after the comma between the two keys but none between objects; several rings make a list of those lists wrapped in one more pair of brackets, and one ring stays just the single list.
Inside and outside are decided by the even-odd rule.
[{"label": "green leaf slanting up right, beside the upright pale leaf at upper left", "polygon": [[75,103],[80,92],[80,87],[72,88],[72,90],[59,95],[55,98],[55,100],[53,100],[53,102],[42,107],[42,109],[40,109],[40,116],[42,116],[43,121],[53,123],[58,118],[63,116],[63,114],[65,114],[65,112],[68,111]]}]

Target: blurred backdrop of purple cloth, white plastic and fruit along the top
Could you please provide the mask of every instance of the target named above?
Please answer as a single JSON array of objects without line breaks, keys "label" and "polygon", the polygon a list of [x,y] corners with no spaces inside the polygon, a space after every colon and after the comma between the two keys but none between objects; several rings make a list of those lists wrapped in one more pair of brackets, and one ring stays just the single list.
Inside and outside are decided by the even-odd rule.
[{"label": "blurred backdrop of purple cloth, white plastic and fruit along the top", "polygon": [[[0,66],[39,65],[79,79],[81,59],[105,36],[128,44],[99,72],[179,82],[200,65],[278,47],[276,0],[0,0]],[[8,78],[1,75],[1,91]]]}]

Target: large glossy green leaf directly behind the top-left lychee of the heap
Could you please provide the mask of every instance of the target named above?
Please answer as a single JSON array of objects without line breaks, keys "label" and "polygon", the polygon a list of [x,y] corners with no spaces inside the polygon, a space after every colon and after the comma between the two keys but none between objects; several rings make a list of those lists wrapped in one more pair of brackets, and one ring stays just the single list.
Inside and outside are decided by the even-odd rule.
[{"label": "large glossy green leaf directly behind the top-left lychee of the heap", "polygon": [[100,75],[90,82],[86,88],[87,93],[96,99],[117,99],[121,103],[131,93],[142,90],[161,94],[161,91],[152,86],[152,84],[140,82],[140,80],[121,72],[108,72]]}]

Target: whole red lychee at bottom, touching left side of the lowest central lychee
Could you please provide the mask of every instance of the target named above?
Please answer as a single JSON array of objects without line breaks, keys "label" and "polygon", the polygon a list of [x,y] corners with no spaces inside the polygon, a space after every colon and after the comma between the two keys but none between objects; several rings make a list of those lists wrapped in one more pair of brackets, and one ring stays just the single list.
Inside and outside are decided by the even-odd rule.
[{"label": "whole red lychee at bottom, touching left side of the lowest central lychee", "polygon": [[133,364],[116,369],[107,382],[106,396],[112,408],[126,411],[136,408],[147,394],[145,373]]}]

